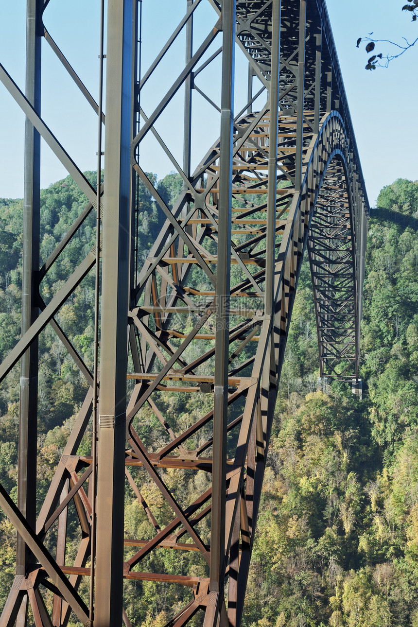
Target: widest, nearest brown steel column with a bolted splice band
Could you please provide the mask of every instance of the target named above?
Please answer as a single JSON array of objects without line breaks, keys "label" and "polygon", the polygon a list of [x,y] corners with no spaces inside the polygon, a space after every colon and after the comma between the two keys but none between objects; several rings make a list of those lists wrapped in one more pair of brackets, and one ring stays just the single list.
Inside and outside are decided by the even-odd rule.
[{"label": "widest, nearest brown steel column with a bolted splice band", "polygon": [[95,627],[122,624],[132,0],[109,0]]}]

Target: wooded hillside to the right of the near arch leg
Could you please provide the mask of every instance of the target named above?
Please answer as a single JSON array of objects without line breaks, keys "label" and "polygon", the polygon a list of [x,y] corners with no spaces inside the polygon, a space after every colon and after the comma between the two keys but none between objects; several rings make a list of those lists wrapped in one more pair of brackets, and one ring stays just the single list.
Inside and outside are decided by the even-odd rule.
[{"label": "wooded hillside to the right of the near arch leg", "polygon": [[418,626],[417,226],[418,182],[385,187],[368,232],[362,403],[342,384],[313,389],[301,277],[246,624]]}]

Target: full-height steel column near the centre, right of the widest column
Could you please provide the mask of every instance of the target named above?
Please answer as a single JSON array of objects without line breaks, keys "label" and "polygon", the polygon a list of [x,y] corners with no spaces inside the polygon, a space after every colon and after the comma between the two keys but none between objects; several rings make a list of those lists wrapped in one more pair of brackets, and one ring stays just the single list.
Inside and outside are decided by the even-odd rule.
[{"label": "full-height steel column near the centre, right of the widest column", "polygon": [[[213,418],[213,472],[211,516],[211,566],[209,587],[217,593],[217,610],[224,602],[225,493],[228,391],[229,292],[231,278],[231,219],[234,130],[235,0],[222,3],[222,93],[219,155],[219,229],[216,275],[216,332]],[[208,608],[209,610],[209,608]],[[216,612],[206,612],[214,624]]]}]

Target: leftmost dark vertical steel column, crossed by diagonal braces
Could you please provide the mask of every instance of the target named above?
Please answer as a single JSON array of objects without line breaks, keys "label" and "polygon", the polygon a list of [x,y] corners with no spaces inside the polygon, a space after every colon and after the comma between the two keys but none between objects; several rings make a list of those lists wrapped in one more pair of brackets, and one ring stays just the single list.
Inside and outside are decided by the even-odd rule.
[{"label": "leftmost dark vertical steel column, crossed by diagonal braces", "polygon": [[[26,98],[37,113],[41,110],[40,0],[26,4]],[[24,127],[24,211],[22,335],[38,317],[36,273],[39,270],[39,176],[41,139],[28,118]],[[20,419],[18,463],[18,507],[35,527],[36,520],[36,435],[38,423],[38,339],[26,350],[20,366]],[[27,551],[18,535],[16,574],[27,569]],[[26,614],[26,611],[25,611]]]}]

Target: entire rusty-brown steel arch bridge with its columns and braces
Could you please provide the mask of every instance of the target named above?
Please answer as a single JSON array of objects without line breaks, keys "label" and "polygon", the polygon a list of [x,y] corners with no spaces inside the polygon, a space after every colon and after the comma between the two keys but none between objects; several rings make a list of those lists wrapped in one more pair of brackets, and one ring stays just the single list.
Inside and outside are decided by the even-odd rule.
[{"label": "entire rusty-brown steel arch bridge with its columns and braces", "polygon": [[[107,50],[104,55],[102,43],[99,55],[100,76],[107,64],[102,101],[101,88],[98,97],[88,92],[44,26],[54,1],[28,0],[25,93],[0,65],[1,81],[26,114],[22,335],[0,366],[1,379],[18,362],[21,372],[18,507],[0,486],[0,505],[16,527],[18,544],[16,577],[0,625],[25,626],[30,606],[37,627],[65,626],[74,614],[85,625],[129,626],[123,581],[131,580],[154,582],[155,594],[167,584],[189,588],[189,603],[170,618],[170,627],[198,613],[205,627],[218,621],[238,626],[305,248],[320,374],[358,384],[368,201],[325,2],[187,0],[184,17],[142,72],[138,40],[150,28],[145,9],[152,3],[108,0],[100,20],[103,25],[107,12]],[[199,22],[201,11],[206,13]],[[39,113],[41,41],[97,112],[98,172],[105,125],[103,187],[100,177],[97,189],[91,186]],[[153,83],[179,41],[185,61],[178,75]],[[234,110],[235,85],[243,82],[236,55],[248,67],[241,110]],[[213,75],[205,80],[212,65],[217,87]],[[147,84],[160,88],[152,111],[145,111],[142,97]],[[183,147],[174,150],[159,120],[179,93],[184,107],[172,124],[184,126]],[[193,166],[193,114],[202,103],[217,115],[219,140],[208,142]],[[183,181],[174,206],[147,175],[151,135]],[[87,198],[42,266],[40,137]],[[201,140],[197,145],[200,150]],[[150,251],[138,246],[141,186],[159,212]],[[97,245],[44,302],[41,281],[92,212],[98,216]],[[91,372],[56,314],[95,268],[97,312],[99,288],[102,298],[100,370],[96,361]],[[90,390],[36,515],[38,337],[47,325]],[[201,415],[174,430],[162,399],[177,395],[187,403],[196,394],[202,395]],[[159,424],[158,437],[143,431],[145,414]],[[80,455],[91,416],[91,453]],[[197,497],[196,490],[179,495],[170,489],[169,469],[184,475],[184,482],[200,473]],[[164,525],[141,492],[147,483],[167,503],[170,521]],[[125,491],[144,508],[149,538],[124,537]],[[73,559],[65,550],[69,507],[80,527]],[[146,572],[147,558],[159,549],[194,551],[194,572],[200,574]],[[90,599],[80,592],[83,577]],[[53,606],[45,589],[53,593]]]}]

